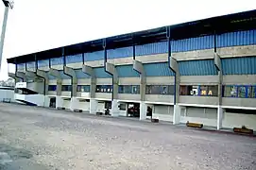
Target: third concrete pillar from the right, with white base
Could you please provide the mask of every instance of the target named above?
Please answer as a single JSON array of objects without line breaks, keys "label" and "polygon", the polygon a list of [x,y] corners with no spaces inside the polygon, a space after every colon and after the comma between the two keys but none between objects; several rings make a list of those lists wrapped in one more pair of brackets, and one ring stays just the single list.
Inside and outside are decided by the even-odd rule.
[{"label": "third concrete pillar from the right, with white base", "polygon": [[145,105],[145,69],[142,62],[138,60],[133,60],[133,70],[140,74],[140,95],[141,95],[141,103],[140,103],[140,120],[146,119],[146,110],[147,107]]}]

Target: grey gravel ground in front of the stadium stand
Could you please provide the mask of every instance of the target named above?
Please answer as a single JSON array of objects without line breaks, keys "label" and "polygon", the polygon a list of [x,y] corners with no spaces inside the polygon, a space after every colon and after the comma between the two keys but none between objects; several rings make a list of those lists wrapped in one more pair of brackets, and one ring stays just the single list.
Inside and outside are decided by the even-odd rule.
[{"label": "grey gravel ground in front of the stadium stand", "polygon": [[0,170],[256,170],[256,138],[0,103]]}]

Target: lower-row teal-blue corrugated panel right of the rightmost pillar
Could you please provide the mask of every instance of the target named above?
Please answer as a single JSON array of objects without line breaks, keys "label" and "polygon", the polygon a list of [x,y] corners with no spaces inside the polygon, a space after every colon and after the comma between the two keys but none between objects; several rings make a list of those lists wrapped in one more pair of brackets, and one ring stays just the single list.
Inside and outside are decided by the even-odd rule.
[{"label": "lower-row teal-blue corrugated panel right of the rightmost pillar", "polygon": [[223,75],[255,75],[256,57],[221,59]]}]

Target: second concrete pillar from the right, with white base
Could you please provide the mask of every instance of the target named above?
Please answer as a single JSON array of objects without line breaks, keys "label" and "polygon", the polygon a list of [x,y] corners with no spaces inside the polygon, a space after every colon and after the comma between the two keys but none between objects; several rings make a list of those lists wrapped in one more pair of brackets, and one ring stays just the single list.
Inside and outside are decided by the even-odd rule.
[{"label": "second concrete pillar from the right, with white base", "polygon": [[175,98],[174,98],[174,115],[173,115],[173,124],[177,125],[180,123],[180,112],[181,108],[179,107],[179,63],[176,59],[169,57],[169,67],[175,73]]}]

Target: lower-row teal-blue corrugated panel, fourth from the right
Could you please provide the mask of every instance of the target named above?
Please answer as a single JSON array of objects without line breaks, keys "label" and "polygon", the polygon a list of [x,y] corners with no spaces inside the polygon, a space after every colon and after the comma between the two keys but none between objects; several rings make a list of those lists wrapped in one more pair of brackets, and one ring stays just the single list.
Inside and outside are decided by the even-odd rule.
[{"label": "lower-row teal-blue corrugated panel, fourth from the right", "polygon": [[115,67],[119,77],[138,77],[138,72],[133,70],[132,65],[118,65]]}]

